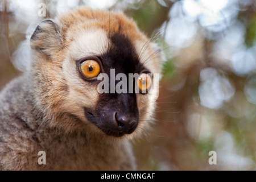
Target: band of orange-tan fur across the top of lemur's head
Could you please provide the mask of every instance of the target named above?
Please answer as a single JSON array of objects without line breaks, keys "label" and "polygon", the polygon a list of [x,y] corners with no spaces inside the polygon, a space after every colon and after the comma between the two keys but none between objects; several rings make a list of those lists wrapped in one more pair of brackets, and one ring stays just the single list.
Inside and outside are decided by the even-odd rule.
[{"label": "band of orange-tan fur across the top of lemur's head", "polygon": [[61,34],[66,38],[67,44],[72,41],[72,35],[77,31],[93,27],[102,28],[110,34],[122,32],[122,34],[129,36],[131,40],[146,40],[146,37],[141,34],[134,21],[127,18],[123,13],[77,7],[59,16],[58,19],[62,23]]}]

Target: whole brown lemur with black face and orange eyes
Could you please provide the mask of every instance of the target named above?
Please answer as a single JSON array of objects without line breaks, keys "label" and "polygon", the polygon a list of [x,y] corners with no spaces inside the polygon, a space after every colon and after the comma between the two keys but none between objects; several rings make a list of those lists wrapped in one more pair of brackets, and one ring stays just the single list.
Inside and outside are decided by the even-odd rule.
[{"label": "whole brown lemur with black face and orange eyes", "polygon": [[[148,73],[160,73],[159,55],[123,13],[76,7],[40,22],[28,69],[0,93],[0,169],[137,169],[130,142],[153,121]],[[98,76],[111,69],[138,73],[134,84],[152,92],[99,93]]]}]

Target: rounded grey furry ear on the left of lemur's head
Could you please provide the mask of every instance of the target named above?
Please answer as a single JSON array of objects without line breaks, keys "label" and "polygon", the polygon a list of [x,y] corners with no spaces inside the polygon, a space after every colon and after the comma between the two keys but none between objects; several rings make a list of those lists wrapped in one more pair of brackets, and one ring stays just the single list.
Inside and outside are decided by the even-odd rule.
[{"label": "rounded grey furry ear on the left of lemur's head", "polygon": [[59,49],[62,43],[60,28],[52,19],[40,22],[30,39],[32,49],[48,56]]}]

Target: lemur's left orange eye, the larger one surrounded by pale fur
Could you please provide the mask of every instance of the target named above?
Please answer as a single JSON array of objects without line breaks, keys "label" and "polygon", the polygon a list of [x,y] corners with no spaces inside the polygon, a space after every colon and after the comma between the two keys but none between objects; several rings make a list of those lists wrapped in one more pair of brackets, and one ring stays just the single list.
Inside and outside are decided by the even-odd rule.
[{"label": "lemur's left orange eye, the larger one surrounded by pale fur", "polygon": [[95,60],[86,60],[80,64],[80,71],[85,77],[93,78],[100,74],[101,67]]}]

